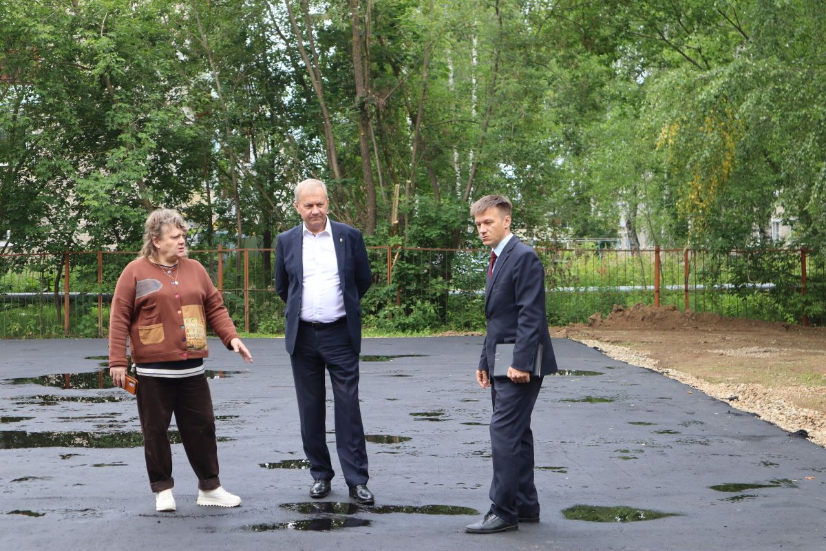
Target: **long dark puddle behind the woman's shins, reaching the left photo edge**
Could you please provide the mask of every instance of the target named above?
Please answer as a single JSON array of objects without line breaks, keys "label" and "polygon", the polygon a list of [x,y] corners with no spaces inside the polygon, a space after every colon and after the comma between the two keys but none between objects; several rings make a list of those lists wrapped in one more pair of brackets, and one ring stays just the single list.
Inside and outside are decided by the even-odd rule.
[{"label": "long dark puddle behind the woman's shins, reaching the left photo edge", "polygon": [[[218,439],[221,441],[221,438]],[[177,430],[169,431],[169,443],[180,444]],[[29,432],[0,431],[0,449],[26,448],[140,448],[144,445],[140,430],[131,432],[96,433],[87,431]]]}]

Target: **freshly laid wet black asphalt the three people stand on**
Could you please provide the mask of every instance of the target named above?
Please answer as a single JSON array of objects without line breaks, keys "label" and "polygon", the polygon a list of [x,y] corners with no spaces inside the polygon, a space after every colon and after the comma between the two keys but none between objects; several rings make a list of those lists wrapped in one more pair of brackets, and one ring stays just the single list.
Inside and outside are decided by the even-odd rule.
[{"label": "freshly laid wet black asphalt the three people stand on", "polygon": [[[254,364],[217,341],[205,364],[213,377],[231,372],[210,385],[221,482],[243,504],[196,506],[196,478],[174,444],[178,511],[157,513],[142,448],[84,444],[139,431],[134,397],[63,388],[64,374],[100,369],[102,360],[86,357],[107,354],[106,341],[0,341],[0,549],[826,549],[826,450],[569,340],[553,343],[560,368],[600,374],[545,378],[533,417],[539,524],[463,531],[489,505],[491,404],[474,378],[479,337],[363,341],[363,355],[402,356],[361,364],[377,503],[349,505],[337,476],[320,505],[307,495],[309,471],[274,468],[304,457],[283,341],[246,344]],[[329,390],[328,401],[340,472]],[[712,488],[737,483],[765,487]],[[566,518],[577,505],[674,515]]]}]

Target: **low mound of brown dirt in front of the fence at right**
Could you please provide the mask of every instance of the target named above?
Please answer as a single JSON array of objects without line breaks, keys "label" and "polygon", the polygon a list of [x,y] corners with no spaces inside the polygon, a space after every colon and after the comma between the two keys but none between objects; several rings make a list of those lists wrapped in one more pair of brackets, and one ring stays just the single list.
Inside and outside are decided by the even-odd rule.
[{"label": "low mound of brown dirt in front of the fence at right", "polygon": [[[701,330],[748,330],[754,327],[770,325],[785,330],[796,328],[788,323],[771,323],[768,321],[743,320],[710,314],[707,312],[680,311],[674,305],[648,306],[642,302],[626,307],[614,305],[614,309],[603,318],[600,312],[588,318],[588,327],[595,329],[642,329],[657,330],[701,329]],[[576,327],[577,325],[568,325]],[[583,325],[579,325],[583,326]]]}]

